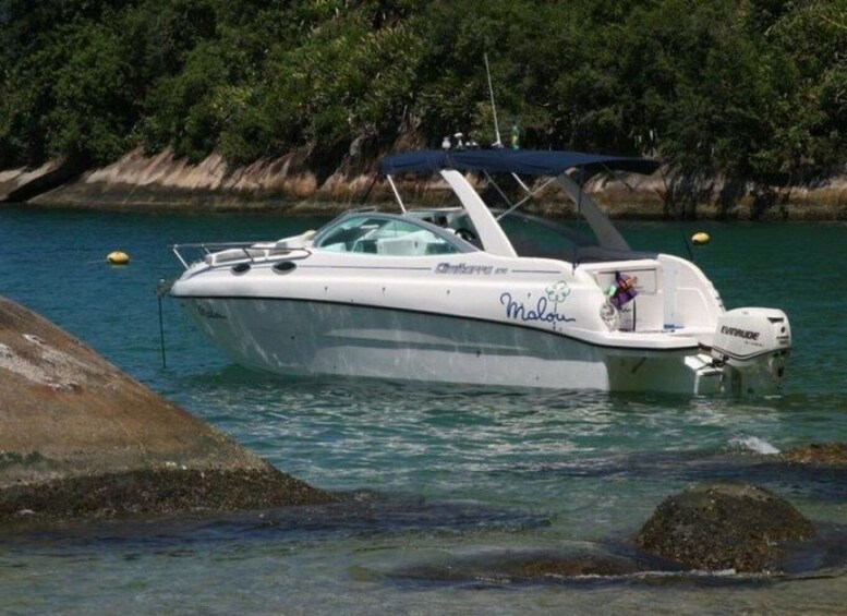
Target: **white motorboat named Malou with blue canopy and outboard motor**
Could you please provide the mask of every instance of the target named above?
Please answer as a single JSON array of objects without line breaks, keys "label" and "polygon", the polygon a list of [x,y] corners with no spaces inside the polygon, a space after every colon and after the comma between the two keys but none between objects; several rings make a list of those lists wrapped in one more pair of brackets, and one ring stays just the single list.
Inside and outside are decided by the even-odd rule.
[{"label": "white motorboat named Malou with blue canopy and outboard motor", "polygon": [[[630,250],[576,181],[657,166],[567,152],[388,156],[382,170],[399,214],[349,212],[278,241],[176,245],[185,271],[170,294],[233,361],[276,373],[776,391],[791,347],[785,313],[725,310],[690,261]],[[407,209],[396,180],[422,172],[439,173],[457,205]],[[527,192],[525,176],[548,177],[542,186],[561,188],[594,238],[518,214],[522,202],[492,210],[467,172],[513,178]],[[193,263],[191,250],[201,251]]]}]

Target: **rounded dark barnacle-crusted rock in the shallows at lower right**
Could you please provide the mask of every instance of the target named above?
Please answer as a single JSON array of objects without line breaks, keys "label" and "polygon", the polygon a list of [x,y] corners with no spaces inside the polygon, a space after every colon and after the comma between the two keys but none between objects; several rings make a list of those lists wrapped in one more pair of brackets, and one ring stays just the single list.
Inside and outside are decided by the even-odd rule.
[{"label": "rounded dark barnacle-crusted rock in the shallows at lower right", "polygon": [[769,571],[784,542],[813,538],[813,524],[789,503],[745,483],[700,483],[667,497],[636,543],[692,569]]}]

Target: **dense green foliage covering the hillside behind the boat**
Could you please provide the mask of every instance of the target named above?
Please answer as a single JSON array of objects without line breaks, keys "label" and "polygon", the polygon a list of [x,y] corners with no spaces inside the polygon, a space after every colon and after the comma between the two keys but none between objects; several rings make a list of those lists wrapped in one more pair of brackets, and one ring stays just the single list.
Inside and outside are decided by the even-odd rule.
[{"label": "dense green foliage covering the hillside behind the boat", "polygon": [[0,0],[0,167],[491,142],[484,52],[525,146],[847,160],[847,0]]}]

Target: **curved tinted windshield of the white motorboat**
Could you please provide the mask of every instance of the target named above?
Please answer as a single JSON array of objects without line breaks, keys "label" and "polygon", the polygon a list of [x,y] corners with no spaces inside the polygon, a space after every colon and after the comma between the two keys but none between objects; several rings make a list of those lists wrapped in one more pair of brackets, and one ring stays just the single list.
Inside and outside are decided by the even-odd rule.
[{"label": "curved tinted windshield of the white motorboat", "polygon": [[341,218],[315,238],[324,251],[371,253],[388,256],[424,256],[468,252],[449,231],[436,232],[416,220],[383,216]]}]

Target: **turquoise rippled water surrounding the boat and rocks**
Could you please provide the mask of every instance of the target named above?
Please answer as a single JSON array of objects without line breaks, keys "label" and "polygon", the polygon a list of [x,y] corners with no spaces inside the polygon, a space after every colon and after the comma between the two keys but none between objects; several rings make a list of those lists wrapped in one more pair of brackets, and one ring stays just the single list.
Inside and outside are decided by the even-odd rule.
[{"label": "turquoise rippled water surrounding the boat and rocks", "polygon": [[[683,256],[683,238],[707,231],[712,242],[694,256],[727,307],[788,313],[790,370],[783,395],[769,399],[269,377],[231,365],[169,301],[162,369],[154,286],[181,270],[169,244],[274,239],[319,224],[0,208],[0,294],[279,468],[320,487],[360,491],[342,510],[0,536],[0,611],[843,613],[847,583],[832,554],[821,557],[838,565],[824,567],[827,577],[775,581],[525,584],[408,572],[528,549],[626,552],[662,498],[703,479],[760,483],[824,535],[842,538],[847,473],[791,470],[755,451],[847,440],[847,226],[621,226],[637,249]],[[128,252],[131,264],[106,265],[112,250]]]}]

